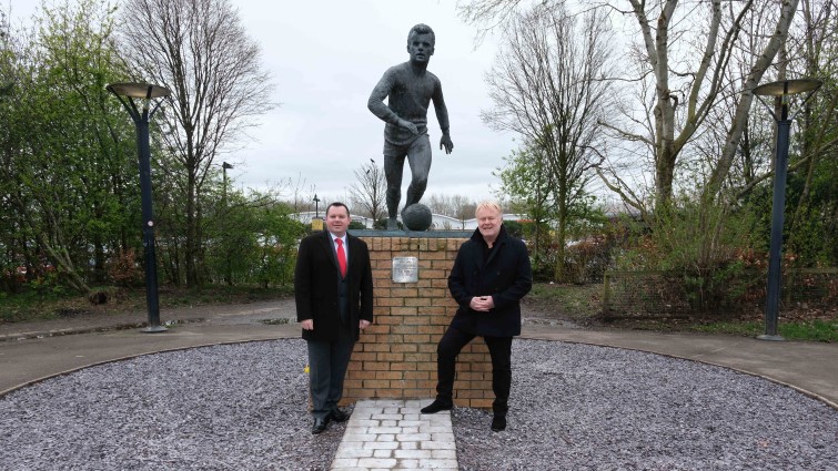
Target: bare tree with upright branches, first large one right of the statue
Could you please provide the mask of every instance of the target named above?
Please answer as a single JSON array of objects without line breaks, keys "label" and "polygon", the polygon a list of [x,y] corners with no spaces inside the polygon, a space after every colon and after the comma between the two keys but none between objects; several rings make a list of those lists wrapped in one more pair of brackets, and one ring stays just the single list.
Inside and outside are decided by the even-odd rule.
[{"label": "bare tree with upright branches, first large one right of the statue", "polygon": [[497,62],[487,74],[494,109],[483,120],[533,143],[555,185],[558,254],[563,278],[564,239],[575,205],[586,194],[592,168],[600,162],[600,122],[608,106],[610,30],[604,12],[579,17],[552,6],[515,13]]}]

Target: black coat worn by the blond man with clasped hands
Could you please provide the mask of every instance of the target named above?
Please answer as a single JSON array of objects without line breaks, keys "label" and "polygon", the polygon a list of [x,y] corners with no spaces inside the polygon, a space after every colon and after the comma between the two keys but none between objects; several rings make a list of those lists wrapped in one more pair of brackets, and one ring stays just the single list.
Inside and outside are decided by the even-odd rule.
[{"label": "black coat worn by the blond man with clasped hands", "polygon": [[[488,258],[479,229],[466,240],[448,276],[448,289],[460,305],[452,327],[477,336],[521,335],[521,299],[533,287],[533,269],[526,245],[501,226]],[[468,307],[475,296],[492,295],[494,309],[479,313]]]}]

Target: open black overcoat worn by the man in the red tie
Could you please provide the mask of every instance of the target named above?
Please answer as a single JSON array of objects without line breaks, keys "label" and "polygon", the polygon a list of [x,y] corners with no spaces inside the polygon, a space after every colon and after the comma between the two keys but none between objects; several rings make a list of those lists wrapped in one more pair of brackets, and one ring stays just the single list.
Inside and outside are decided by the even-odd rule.
[{"label": "open black overcoat worn by the man in the red tie", "polygon": [[[334,243],[327,231],[312,234],[300,243],[294,270],[294,299],[296,320],[314,320],[313,330],[303,330],[305,340],[333,341],[337,339],[341,322],[341,275],[335,258]],[[352,338],[359,338],[359,320],[373,321],[373,274],[366,243],[346,234],[350,252],[346,279],[350,298],[350,327]]]}]

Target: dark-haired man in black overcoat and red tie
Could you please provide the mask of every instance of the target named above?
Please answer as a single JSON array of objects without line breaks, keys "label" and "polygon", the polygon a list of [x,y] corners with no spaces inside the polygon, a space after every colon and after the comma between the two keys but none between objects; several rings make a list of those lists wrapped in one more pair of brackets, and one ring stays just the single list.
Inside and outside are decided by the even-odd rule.
[{"label": "dark-haired man in black overcoat and red tie", "polygon": [[343,422],[337,408],[343,378],[361,330],[373,321],[373,276],[366,243],[349,234],[350,209],[326,208],[326,228],[305,237],[294,270],[296,320],[309,346],[312,433],[330,420]]}]

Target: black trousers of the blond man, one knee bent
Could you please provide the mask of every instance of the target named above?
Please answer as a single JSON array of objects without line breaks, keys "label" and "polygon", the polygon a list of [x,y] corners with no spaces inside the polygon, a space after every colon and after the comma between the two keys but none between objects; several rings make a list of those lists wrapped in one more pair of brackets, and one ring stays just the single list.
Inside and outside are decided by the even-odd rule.
[{"label": "black trousers of the blond man, one knee bent", "polygon": [[[475,337],[474,334],[448,327],[440,340],[436,348],[436,399],[440,401],[453,403],[457,355]],[[492,409],[497,416],[506,416],[512,388],[512,337],[484,336],[483,340],[492,356],[492,390],[495,393]]]}]

